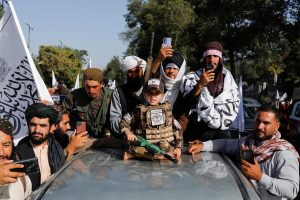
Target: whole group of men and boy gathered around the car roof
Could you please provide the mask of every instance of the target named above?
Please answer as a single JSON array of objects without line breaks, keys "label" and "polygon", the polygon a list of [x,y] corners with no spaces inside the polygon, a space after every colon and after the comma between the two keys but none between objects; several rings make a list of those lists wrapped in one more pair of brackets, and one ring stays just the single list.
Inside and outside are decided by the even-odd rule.
[{"label": "whole group of men and boy gathered around the car roof", "polygon": [[[127,56],[120,66],[126,74],[126,82],[114,91],[104,87],[101,70],[87,69],[84,87],[71,92],[59,112],[42,103],[28,107],[25,112],[28,136],[16,148],[12,130],[5,128],[11,124],[7,120],[0,121],[0,190],[6,188],[7,194],[12,194],[11,188],[16,187],[13,185],[23,185],[25,197],[29,184],[24,187],[24,181],[19,181],[22,177],[31,182],[30,191],[35,190],[68,156],[86,147],[89,137],[125,138],[132,142],[140,135],[163,149],[170,149],[177,159],[181,155],[182,141],[190,143],[188,152],[191,154],[216,151],[239,156],[243,148],[251,148],[255,164],[241,159],[242,172],[264,191],[281,198],[295,198],[299,190],[299,155],[292,145],[280,139],[280,116],[276,109],[262,107],[253,134],[230,139],[228,128],[237,116],[240,99],[238,87],[223,65],[222,54],[219,42],[208,42],[200,67],[185,75],[184,57],[173,52],[172,47],[163,47],[151,69],[152,76],[158,79],[149,81],[144,80],[146,61]],[[147,106],[152,106],[151,112]],[[86,131],[77,133],[75,130],[67,136],[67,130],[75,129],[78,121],[86,122]],[[132,126],[136,122],[143,126]],[[155,132],[154,128],[160,126],[164,128],[156,129],[163,132]],[[163,140],[153,139],[155,134]],[[172,148],[168,144],[173,145]],[[136,149],[130,144],[124,159],[139,157],[141,152],[149,158],[149,152]],[[22,167],[11,163],[15,155],[18,159],[37,157],[40,173],[30,175],[31,181],[28,181],[25,174],[11,172],[10,169]]]}]

